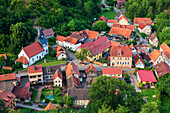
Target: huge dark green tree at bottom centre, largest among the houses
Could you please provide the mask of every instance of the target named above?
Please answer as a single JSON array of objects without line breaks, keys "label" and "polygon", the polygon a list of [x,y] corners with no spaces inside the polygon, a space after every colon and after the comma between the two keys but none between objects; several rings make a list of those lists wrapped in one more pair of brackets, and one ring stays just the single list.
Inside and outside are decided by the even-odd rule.
[{"label": "huge dark green tree at bottom centre, largest among the houses", "polygon": [[[115,92],[118,90],[118,94]],[[91,103],[88,104],[87,110],[96,113],[101,106],[106,104],[111,109],[116,110],[118,105],[128,107],[130,112],[138,112],[144,103],[143,97],[137,93],[134,86],[127,84],[125,81],[118,81],[114,77],[100,76],[88,90]]]}]

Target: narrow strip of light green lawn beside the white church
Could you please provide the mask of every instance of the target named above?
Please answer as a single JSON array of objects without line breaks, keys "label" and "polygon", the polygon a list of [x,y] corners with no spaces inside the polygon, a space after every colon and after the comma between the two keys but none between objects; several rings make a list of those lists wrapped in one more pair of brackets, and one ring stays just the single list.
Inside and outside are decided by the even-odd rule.
[{"label": "narrow strip of light green lawn beside the white church", "polygon": [[41,60],[40,62],[36,63],[36,65],[41,64],[42,67],[46,67],[46,66],[53,66],[53,65],[59,65],[59,64],[65,64],[66,61],[59,61],[59,60],[54,60],[54,61],[46,61],[46,63],[44,63],[44,60]]}]

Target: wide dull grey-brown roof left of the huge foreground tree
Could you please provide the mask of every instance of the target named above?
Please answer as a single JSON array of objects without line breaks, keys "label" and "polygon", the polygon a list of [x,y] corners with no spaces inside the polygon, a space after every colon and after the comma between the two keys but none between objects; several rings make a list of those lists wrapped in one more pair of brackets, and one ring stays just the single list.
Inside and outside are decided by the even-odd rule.
[{"label": "wide dull grey-brown roof left of the huge foreground tree", "polygon": [[68,89],[67,92],[75,100],[88,100],[87,89]]}]

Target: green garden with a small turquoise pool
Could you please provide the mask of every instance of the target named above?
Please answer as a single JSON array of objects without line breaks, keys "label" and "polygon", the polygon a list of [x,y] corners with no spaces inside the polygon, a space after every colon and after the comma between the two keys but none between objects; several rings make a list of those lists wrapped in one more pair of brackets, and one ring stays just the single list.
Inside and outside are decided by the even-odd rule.
[{"label": "green garden with a small turquoise pool", "polygon": [[61,87],[57,87],[54,89],[45,89],[43,88],[41,91],[40,102],[49,103],[52,102],[54,104],[62,104],[62,95],[61,95]]}]

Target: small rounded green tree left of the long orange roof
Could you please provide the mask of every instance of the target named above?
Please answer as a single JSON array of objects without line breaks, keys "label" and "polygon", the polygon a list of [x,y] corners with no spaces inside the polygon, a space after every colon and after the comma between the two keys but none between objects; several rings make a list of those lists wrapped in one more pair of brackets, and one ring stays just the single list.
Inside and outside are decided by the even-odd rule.
[{"label": "small rounded green tree left of the long orange roof", "polygon": [[97,31],[105,31],[107,29],[107,23],[100,20],[94,24],[94,29]]}]

